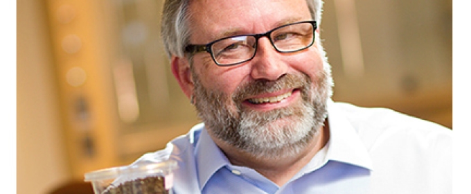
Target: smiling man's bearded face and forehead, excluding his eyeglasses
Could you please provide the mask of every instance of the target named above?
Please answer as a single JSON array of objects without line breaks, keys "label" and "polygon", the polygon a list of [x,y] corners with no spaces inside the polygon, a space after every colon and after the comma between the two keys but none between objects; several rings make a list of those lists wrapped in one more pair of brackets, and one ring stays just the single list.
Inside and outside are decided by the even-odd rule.
[{"label": "smiling man's bearded face and forehead, excluding his eyeglasses", "polygon": [[[191,1],[189,11],[191,44],[312,20],[305,0]],[[278,53],[262,37],[255,58],[233,67],[218,67],[208,53],[195,54],[193,97],[213,139],[258,157],[304,148],[323,124],[332,85],[315,41],[303,51]]]}]

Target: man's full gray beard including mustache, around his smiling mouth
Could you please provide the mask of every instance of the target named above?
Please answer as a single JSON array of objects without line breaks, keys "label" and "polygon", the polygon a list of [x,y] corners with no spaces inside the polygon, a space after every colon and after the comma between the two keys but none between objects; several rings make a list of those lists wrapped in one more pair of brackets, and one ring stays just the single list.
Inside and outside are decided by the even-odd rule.
[{"label": "man's full gray beard including mustache, around his smiling mouth", "polygon": [[[256,158],[290,157],[301,152],[323,126],[331,93],[327,76],[321,73],[314,88],[305,75],[299,78],[289,74],[276,81],[254,81],[240,87],[236,95],[229,98],[220,91],[204,88],[193,73],[194,103],[211,136]],[[245,99],[244,96],[297,85],[301,85],[302,100],[295,105],[269,112],[242,107],[240,100]],[[279,119],[283,121],[276,122]]]}]

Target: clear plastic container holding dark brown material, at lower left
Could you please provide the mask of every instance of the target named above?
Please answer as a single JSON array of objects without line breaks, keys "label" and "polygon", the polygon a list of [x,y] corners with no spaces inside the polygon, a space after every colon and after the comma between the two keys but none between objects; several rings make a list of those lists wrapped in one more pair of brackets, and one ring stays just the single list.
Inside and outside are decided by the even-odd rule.
[{"label": "clear plastic container holding dark brown material, at lower left", "polygon": [[86,173],[85,182],[91,182],[96,194],[171,194],[176,168],[177,162],[171,160],[118,166]]}]

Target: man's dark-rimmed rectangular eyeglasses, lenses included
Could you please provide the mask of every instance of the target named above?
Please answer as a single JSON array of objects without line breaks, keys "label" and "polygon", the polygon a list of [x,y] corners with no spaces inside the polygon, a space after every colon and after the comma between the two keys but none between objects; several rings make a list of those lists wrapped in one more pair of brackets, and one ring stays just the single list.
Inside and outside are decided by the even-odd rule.
[{"label": "man's dark-rimmed rectangular eyeglasses, lenses included", "polygon": [[258,39],[268,37],[276,51],[294,53],[314,43],[316,21],[299,21],[255,35],[235,35],[217,39],[208,44],[188,44],[186,53],[208,52],[218,66],[231,66],[247,62],[255,57]]}]

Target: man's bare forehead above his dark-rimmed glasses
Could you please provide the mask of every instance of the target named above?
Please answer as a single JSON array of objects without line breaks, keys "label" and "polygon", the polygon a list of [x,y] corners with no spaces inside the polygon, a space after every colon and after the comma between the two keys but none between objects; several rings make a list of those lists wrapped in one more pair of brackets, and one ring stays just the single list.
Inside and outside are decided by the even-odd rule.
[{"label": "man's bare forehead above his dark-rimmed glasses", "polygon": [[305,0],[193,0],[188,13],[194,44],[311,19]]}]

